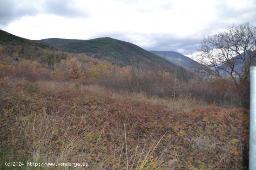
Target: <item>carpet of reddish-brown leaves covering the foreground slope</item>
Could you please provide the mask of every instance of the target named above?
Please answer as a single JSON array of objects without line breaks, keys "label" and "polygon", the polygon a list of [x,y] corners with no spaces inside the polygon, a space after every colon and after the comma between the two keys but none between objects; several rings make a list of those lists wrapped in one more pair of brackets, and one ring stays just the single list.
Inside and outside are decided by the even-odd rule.
[{"label": "carpet of reddish-brown leaves covering the foreground slope", "polygon": [[[18,154],[27,154],[23,150],[32,146],[45,146],[47,153],[52,154],[49,156],[53,156],[72,146],[72,156],[88,154],[87,161],[97,164],[113,158],[118,150],[115,164],[110,166],[121,169],[118,158],[125,153],[121,146],[123,123],[126,123],[131,151],[128,157],[132,157],[137,145],[138,150],[144,146],[147,150],[154,146],[155,139],[167,133],[154,155],[148,157],[150,166],[155,166],[155,160],[164,150],[163,160],[173,160],[177,166],[186,164],[189,169],[237,169],[242,167],[241,159],[246,157],[243,155],[249,135],[246,110],[207,107],[175,114],[164,106],[118,101],[109,96],[99,98],[87,91],[37,91],[34,95],[26,90],[29,82],[16,86],[13,83],[11,87],[5,85],[0,89],[5,90],[8,99],[2,100],[0,105],[0,139]],[[15,91],[16,88],[19,90]],[[37,125],[42,122],[41,132],[33,131],[34,113],[45,114],[35,122]],[[43,138],[44,130],[49,135],[45,135],[47,140]]]}]

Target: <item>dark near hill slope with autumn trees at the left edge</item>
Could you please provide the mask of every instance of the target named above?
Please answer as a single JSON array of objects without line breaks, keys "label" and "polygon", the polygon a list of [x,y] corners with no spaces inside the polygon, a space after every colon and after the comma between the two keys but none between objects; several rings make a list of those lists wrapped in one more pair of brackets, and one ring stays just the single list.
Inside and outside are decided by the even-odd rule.
[{"label": "dark near hill slope with autumn trees at the left edge", "polygon": [[19,59],[36,60],[52,67],[67,54],[54,46],[38,40],[21,38],[0,30],[0,62],[11,63]]}]

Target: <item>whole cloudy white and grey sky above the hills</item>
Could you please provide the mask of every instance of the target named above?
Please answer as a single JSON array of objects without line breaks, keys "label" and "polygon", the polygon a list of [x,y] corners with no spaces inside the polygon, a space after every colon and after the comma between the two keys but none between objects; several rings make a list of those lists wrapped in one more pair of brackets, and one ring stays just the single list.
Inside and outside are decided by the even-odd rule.
[{"label": "whole cloudy white and grey sky above the hills", "polygon": [[245,22],[256,24],[256,0],[0,0],[0,29],[23,38],[111,37],[188,56]]}]

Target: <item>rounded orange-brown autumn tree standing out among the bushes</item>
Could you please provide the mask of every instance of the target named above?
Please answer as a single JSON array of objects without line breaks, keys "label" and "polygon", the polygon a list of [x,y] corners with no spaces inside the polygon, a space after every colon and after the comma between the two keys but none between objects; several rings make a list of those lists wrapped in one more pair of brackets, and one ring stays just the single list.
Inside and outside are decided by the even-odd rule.
[{"label": "rounded orange-brown autumn tree standing out among the bushes", "polygon": [[79,79],[83,76],[83,71],[81,68],[81,64],[78,62],[76,57],[72,57],[67,60],[67,68],[66,68],[68,76],[73,79]]}]

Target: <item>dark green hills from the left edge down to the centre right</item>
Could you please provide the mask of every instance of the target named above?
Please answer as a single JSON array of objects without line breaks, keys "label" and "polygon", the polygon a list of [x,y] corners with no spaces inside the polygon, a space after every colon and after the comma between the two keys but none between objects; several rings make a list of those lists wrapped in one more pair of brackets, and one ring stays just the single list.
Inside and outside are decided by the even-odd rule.
[{"label": "dark green hills from the left edge down to the centre right", "polygon": [[62,59],[67,58],[68,53],[62,52],[67,51],[85,53],[118,66],[135,66],[142,70],[163,70],[182,79],[190,77],[190,73],[186,69],[169,63],[135,44],[113,38],[92,40],[50,38],[37,41],[21,38],[1,30],[0,50],[0,61],[4,63],[29,59],[47,63],[48,66],[53,67],[54,63],[59,63]]}]

